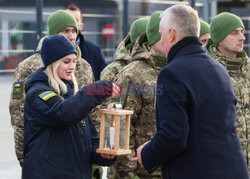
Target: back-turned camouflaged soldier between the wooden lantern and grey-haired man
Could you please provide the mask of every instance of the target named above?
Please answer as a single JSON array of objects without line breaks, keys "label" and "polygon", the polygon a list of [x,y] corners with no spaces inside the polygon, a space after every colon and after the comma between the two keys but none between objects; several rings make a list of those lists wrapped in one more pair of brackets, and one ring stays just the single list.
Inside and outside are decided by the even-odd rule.
[{"label": "back-turned camouflaged soldier between the wooden lantern and grey-haired man", "polygon": [[[137,163],[131,161],[141,143],[150,140],[156,131],[155,100],[156,83],[160,70],[166,66],[166,56],[162,53],[161,35],[159,33],[160,14],[152,13],[146,27],[146,33],[141,34],[135,43],[128,64],[115,77],[116,84],[125,86],[121,101],[127,95],[126,109],[134,111],[131,117],[130,148],[132,155],[119,157],[115,166],[120,178],[161,178],[160,170],[149,175]],[[128,90],[129,89],[129,90]]]}]

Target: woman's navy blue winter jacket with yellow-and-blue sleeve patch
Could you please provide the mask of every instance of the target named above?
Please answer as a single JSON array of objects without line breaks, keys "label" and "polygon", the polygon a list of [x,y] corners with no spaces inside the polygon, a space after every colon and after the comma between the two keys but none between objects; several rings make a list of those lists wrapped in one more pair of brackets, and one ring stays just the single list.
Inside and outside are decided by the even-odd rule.
[{"label": "woman's navy blue winter jacket with yellow-and-blue sleeve patch", "polygon": [[89,95],[90,86],[87,86],[73,95],[72,83],[64,82],[67,94],[52,95],[47,100],[40,94],[53,90],[42,69],[34,72],[26,82],[24,179],[88,179],[91,178],[92,163],[109,166],[115,162],[115,159],[104,159],[96,153],[99,138],[88,116],[93,107],[110,95],[111,83],[98,81],[91,84],[92,94],[98,86],[103,87],[105,94]]}]

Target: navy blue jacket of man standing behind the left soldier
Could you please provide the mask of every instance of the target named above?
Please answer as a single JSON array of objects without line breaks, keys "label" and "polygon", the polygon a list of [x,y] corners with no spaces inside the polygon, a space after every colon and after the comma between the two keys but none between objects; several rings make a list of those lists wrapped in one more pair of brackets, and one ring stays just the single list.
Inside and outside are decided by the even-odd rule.
[{"label": "navy blue jacket of man standing behind the left soldier", "polygon": [[101,47],[84,39],[83,35],[79,33],[80,40],[79,47],[82,52],[82,58],[85,59],[92,67],[95,80],[100,79],[102,70],[107,66]]}]

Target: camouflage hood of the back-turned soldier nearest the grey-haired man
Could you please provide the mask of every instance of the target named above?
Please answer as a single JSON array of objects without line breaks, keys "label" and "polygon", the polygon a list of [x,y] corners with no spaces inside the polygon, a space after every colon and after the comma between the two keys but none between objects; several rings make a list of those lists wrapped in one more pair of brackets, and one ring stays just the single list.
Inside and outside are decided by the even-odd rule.
[{"label": "camouflage hood of the back-turned soldier nearest the grey-haired man", "polygon": [[153,68],[160,70],[167,65],[166,55],[148,45],[146,33],[141,34],[131,52],[132,61],[146,61]]}]

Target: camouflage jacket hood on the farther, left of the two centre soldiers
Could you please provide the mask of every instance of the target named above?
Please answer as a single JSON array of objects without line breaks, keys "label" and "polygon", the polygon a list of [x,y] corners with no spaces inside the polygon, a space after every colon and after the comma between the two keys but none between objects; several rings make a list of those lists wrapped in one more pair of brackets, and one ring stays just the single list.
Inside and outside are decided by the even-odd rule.
[{"label": "camouflage jacket hood on the farther, left of the two centre soldiers", "polygon": [[129,61],[131,62],[131,49],[133,45],[131,44],[130,37],[127,35],[124,40],[121,41],[117,50],[115,52],[115,60]]}]

